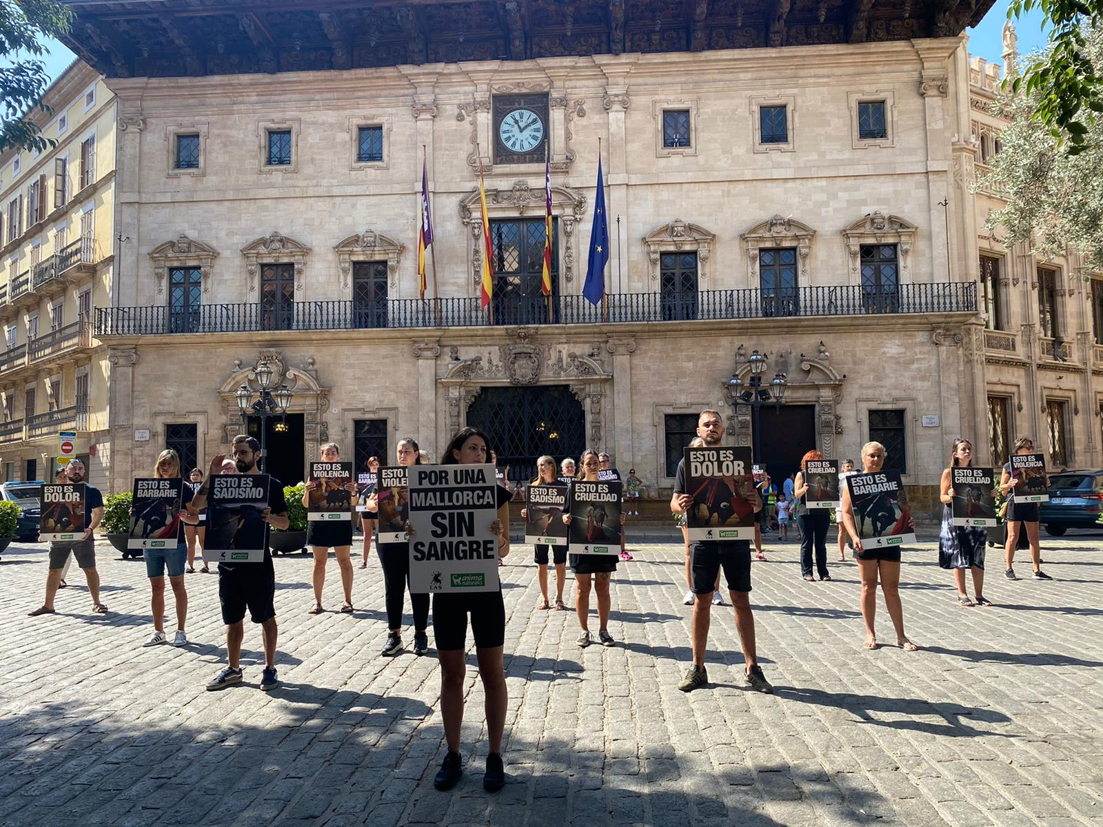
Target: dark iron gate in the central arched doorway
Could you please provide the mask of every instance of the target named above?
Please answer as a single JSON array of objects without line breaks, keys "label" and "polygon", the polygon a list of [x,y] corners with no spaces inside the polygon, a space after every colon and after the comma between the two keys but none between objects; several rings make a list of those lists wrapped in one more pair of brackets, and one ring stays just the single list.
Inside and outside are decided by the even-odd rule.
[{"label": "dark iron gate in the central arched doorway", "polygon": [[586,448],[582,404],[566,385],[483,388],[468,409],[468,425],[486,431],[512,482],[535,477],[543,454],[557,463],[565,457],[577,461]]}]

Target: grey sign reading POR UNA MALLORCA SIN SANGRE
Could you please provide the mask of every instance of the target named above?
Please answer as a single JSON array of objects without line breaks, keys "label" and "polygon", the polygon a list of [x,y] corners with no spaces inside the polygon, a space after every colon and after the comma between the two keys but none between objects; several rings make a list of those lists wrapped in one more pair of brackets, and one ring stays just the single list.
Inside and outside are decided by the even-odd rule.
[{"label": "grey sign reading POR UNA MALLORCA SIN SANGRE", "polygon": [[[410,594],[497,591],[493,465],[410,465]],[[382,473],[382,470],[381,470]]]}]

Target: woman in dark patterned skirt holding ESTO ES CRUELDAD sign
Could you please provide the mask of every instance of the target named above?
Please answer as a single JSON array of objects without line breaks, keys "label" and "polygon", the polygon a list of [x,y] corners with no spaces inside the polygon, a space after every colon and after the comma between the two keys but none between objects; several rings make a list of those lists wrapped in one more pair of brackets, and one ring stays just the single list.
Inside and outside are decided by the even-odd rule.
[{"label": "woman in dark patterned skirt holding ESTO ES CRUELDAD sign", "polygon": [[[943,503],[939,566],[953,570],[957,604],[962,606],[992,605],[984,598],[984,548],[988,540],[984,525],[988,519],[996,525],[992,490],[992,469],[974,469],[973,443],[955,439],[950,451],[950,468],[942,472],[939,485],[939,500]],[[955,517],[955,511],[965,512],[965,515]],[[959,519],[965,525],[959,525]],[[976,595],[973,600],[965,591],[965,569],[973,571],[973,593]]]}]

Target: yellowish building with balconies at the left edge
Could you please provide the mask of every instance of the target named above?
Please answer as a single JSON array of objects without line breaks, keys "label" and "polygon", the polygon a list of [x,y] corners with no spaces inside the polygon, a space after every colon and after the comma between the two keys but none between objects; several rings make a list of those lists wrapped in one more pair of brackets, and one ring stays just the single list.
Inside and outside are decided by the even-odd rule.
[{"label": "yellowish building with balconies at the left edge", "polygon": [[0,154],[0,474],[51,479],[58,432],[100,479],[109,464],[107,348],[93,308],[118,293],[115,97],[85,63],[69,66],[30,116],[56,146]]}]

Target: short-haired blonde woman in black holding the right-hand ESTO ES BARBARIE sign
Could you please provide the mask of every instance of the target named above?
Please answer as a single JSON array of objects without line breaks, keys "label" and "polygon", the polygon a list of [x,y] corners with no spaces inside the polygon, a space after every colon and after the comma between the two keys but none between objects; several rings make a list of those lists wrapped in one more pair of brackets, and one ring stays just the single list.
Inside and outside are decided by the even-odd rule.
[{"label": "short-haired blonde woman in black holding the right-hand ESTO ES BARBARIE sign", "polygon": [[[880,442],[867,442],[861,447],[861,471],[865,474],[876,474],[885,465],[887,451]],[[897,645],[904,652],[914,652],[919,648],[908,640],[903,632],[903,606],[900,604],[900,547],[891,548],[863,548],[861,537],[858,533],[858,524],[854,518],[854,503],[850,501],[850,487],[840,492],[843,495],[839,515],[846,533],[850,535],[854,544],[854,559],[861,570],[861,619],[866,623],[866,641],[863,643],[867,649],[876,649],[877,632],[874,630],[874,617],[877,614],[877,583],[880,580],[881,594],[885,595],[885,606],[889,610],[889,617],[897,633]]]}]

